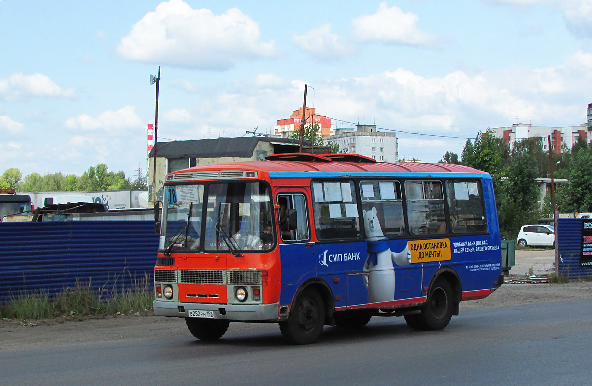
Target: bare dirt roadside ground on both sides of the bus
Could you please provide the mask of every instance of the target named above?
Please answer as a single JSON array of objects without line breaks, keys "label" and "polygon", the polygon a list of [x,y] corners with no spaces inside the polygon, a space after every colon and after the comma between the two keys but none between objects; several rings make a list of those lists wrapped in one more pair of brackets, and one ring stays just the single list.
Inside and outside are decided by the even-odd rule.
[{"label": "bare dirt roadside ground on both sides of the bus", "polygon": [[[537,275],[546,274],[548,272],[545,269],[551,269],[554,261],[555,251],[551,249],[517,250],[516,264],[510,269],[507,279],[525,276],[531,267]],[[504,284],[485,299],[462,302],[461,314],[463,310],[474,308],[583,298],[592,298],[592,281],[568,284]],[[234,328],[241,327],[233,326]],[[179,336],[187,333],[184,319],[150,316],[117,316],[84,321],[0,320],[0,352],[70,343],[134,339],[147,335]]]}]

